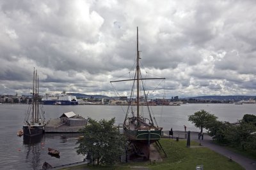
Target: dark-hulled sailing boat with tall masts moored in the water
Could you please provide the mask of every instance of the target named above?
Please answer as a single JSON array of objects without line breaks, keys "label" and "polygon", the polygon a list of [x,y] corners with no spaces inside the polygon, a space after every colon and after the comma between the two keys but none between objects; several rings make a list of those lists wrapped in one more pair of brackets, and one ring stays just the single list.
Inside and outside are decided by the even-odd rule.
[{"label": "dark-hulled sailing boat with tall masts moored in the water", "polygon": [[42,105],[39,104],[39,78],[37,71],[33,73],[33,92],[32,100],[26,112],[23,125],[24,136],[37,136],[44,133],[45,113]]}]

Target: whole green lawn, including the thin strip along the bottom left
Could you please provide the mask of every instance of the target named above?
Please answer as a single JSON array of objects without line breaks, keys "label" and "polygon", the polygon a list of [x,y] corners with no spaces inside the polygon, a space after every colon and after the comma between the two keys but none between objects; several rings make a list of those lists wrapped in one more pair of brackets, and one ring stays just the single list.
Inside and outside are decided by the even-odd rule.
[{"label": "whole green lawn, including the thin strip along the bottom left", "polygon": [[163,162],[156,162],[150,164],[147,162],[129,162],[123,164],[116,164],[114,167],[93,167],[90,165],[70,167],[67,169],[132,169],[134,166],[148,167],[148,169],[195,169],[197,165],[204,166],[204,169],[243,169],[234,161],[230,161],[227,157],[213,152],[208,148],[199,146],[198,143],[191,141],[191,147],[186,147],[185,140],[175,141],[173,139],[161,139],[167,157],[161,152]]}]

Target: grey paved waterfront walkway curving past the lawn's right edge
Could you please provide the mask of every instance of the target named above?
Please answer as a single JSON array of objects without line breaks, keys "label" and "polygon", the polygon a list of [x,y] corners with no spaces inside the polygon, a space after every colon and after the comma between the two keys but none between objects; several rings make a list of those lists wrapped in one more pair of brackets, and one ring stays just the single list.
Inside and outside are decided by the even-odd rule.
[{"label": "grey paved waterfront walkway curving past the lawn's right edge", "polygon": [[[165,132],[166,134],[167,132]],[[173,139],[176,138],[176,136],[180,136],[181,138],[184,138],[185,133],[184,131],[173,131]],[[221,155],[224,155],[228,159],[234,160],[238,164],[244,167],[246,170],[255,170],[256,169],[256,160],[253,159],[248,159],[244,157],[243,155],[240,155],[238,153],[234,153],[224,146],[216,145],[215,143],[212,142],[211,136],[208,136],[207,134],[204,134],[204,140],[199,140],[198,139],[198,132],[191,132],[190,136],[191,140],[201,142],[202,146],[205,146],[214,152],[220,153]]]}]

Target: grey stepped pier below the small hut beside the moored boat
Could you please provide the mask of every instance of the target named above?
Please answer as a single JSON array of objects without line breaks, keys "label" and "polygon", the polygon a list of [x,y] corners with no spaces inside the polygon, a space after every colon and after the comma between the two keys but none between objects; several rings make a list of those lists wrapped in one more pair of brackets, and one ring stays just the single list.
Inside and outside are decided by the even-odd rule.
[{"label": "grey stepped pier below the small hut beside the moored boat", "polygon": [[84,125],[81,126],[69,126],[66,123],[61,124],[59,118],[51,119],[45,125],[45,133],[77,133],[79,129],[83,129]]}]

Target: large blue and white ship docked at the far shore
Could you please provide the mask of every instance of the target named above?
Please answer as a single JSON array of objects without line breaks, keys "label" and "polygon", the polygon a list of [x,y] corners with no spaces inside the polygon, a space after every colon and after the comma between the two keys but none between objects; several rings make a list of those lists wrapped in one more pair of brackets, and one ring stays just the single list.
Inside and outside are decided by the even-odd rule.
[{"label": "large blue and white ship docked at the far shore", "polygon": [[68,94],[45,94],[42,98],[43,104],[51,105],[77,105],[76,96],[69,96]]}]

